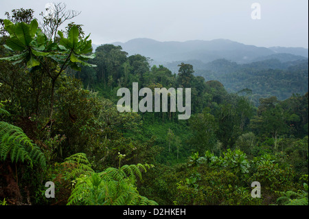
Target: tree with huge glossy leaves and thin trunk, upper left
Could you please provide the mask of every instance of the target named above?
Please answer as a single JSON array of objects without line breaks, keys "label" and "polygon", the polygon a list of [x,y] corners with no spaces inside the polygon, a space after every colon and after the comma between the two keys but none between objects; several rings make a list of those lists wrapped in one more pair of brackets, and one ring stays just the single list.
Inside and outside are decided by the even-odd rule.
[{"label": "tree with huge glossy leaves and thin trunk, upper left", "polygon": [[68,37],[65,38],[63,33],[58,31],[60,41],[55,42],[47,38],[40,29],[38,22],[34,19],[30,24],[12,23],[5,19],[5,30],[10,34],[10,38],[6,40],[5,47],[12,51],[18,51],[19,54],[14,56],[0,58],[0,60],[9,60],[13,64],[26,63],[27,69],[41,69],[47,73],[51,79],[50,91],[50,111],[49,119],[52,123],[54,111],[54,90],[56,81],[67,67],[80,70],[80,65],[93,67],[85,60],[94,58],[94,54],[86,56],[92,51],[91,40],[87,41],[89,36],[79,40],[78,27],[73,26],[69,31]]}]

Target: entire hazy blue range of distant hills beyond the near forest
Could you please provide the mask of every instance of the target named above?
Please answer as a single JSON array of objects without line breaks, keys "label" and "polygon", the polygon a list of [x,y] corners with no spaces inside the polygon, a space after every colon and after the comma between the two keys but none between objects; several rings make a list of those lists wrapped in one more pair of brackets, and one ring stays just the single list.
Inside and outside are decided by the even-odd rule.
[{"label": "entire hazy blue range of distant hills beyond the near forest", "polygon": [[218,39],[213,41],[159,42],[137,38],[120,45],[128,55],[141,54],[178,73],[181,62],[194,67],[194,75],[217,80],[231,93],[252,91],[252,101],[277,96],[285,100],[293,93],[308,92],[308,49],[256,47]]}]

